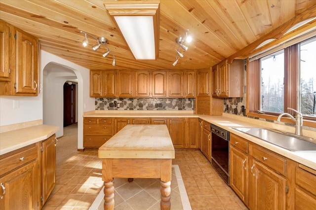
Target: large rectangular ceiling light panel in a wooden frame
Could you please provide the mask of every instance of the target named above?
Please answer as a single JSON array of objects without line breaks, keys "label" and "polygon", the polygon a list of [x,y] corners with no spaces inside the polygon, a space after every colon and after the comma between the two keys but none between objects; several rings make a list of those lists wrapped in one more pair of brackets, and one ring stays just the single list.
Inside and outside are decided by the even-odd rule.
[{"label": "large rectangular ceiling light panel in a wooden frame", "polygon": [[159,52],[160,1],[103,2],[135,59],[156,60]]}]

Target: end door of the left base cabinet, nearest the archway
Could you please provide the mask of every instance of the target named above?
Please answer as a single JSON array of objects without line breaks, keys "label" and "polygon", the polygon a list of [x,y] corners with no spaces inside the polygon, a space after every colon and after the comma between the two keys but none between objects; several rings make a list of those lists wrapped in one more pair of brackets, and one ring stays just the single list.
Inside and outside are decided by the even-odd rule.
[{"label": "end door of the left base cabinet, nearest the archway", "polygon": [[55,135],[41,143],[42,204],[46,202],[56,183],[56,145]]}]

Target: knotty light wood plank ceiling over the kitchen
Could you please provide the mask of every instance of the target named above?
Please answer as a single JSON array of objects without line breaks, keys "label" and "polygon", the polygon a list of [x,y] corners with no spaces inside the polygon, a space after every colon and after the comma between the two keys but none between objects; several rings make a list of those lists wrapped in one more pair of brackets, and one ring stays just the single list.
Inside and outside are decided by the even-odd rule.
[{"label": "knotty light wood plank ceiling over the kitchen", "polygon": [[[194,70],[209,68],[230,56],[244,58],[269,33],[296,23],[293,18],[316,16],[316,0],[160,0],[158,59],[137,61],[103,3],[1,0],[0,18],[37,36],[42,50],[88,69]],[[316,21],[310,24],[315,26]],[[193,42],[173,67],[178,48],[175,38],[185,35],[187,29]],[[84,48],[80,31],[106,37],[117,65],[112,66],[112,57],[102,57],[102,49],[91,49],[94,39],[88,37],[89,47]]]}]

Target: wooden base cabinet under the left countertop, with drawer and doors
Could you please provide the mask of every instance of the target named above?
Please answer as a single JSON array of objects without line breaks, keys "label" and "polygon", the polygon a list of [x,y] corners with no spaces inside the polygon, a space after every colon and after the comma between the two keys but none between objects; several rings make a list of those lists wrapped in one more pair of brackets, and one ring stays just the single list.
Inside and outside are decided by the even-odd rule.
[{"label": "wooden base cabinet under the left countertop, with drawer and doors", "polygon": [[55,135],[0,156],[0,210],[40,210],[56,180]]}]

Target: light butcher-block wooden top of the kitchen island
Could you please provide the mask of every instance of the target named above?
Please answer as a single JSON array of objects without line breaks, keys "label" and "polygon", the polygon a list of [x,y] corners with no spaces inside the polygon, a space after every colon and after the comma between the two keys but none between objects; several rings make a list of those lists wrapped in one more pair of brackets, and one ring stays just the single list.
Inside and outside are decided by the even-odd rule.
[{"label": "light butcher-block wooden top of the kitchen island", "polygon": [[99,148],[99,158],[173,159],[166,125],[127,125]]}]

